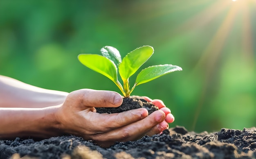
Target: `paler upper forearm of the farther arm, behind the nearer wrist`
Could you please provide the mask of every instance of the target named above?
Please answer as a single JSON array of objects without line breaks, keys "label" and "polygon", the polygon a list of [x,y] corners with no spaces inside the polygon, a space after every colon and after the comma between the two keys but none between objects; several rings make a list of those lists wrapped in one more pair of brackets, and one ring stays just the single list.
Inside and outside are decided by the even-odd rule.
[{"label": "paler upper forearm of the farther arm, behind the nearer wrist", "polygon": [[67,92],[35,87],[0,75],[0,107],[43,108],[64,102]]}]

